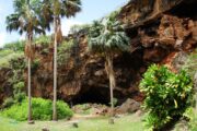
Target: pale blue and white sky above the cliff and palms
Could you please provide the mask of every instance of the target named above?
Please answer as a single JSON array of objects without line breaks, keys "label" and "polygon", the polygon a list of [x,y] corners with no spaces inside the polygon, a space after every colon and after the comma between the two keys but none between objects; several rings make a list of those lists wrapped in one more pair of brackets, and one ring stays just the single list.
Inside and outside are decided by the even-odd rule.
[{"label": "pale blue and white sky above the cliff and palms", "polygon": [[[129,0],[81,0],[82,11],[71,19],[62,19],[62,33],[67,35],[69,28],[74,24],[91,23],[93,20],[101,19],[112,11],[123,7]],[[5,17],[13,13],[13,0],[0,0],[0,47],[7,43],[24,39],[18,32],[8,33],[5,29]]]}]

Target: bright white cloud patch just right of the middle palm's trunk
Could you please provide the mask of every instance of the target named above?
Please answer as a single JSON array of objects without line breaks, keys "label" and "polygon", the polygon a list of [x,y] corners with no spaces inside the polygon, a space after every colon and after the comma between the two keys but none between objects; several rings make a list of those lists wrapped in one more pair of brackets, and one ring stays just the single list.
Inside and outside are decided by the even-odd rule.
[{"label": "bright white cloud patch just right of the middle palm's trunk", "polygon": [[73,25],[81,25],[83,24],[82,22],[79,21],[74,21],[74,20],[62,20],[61,21],[61,29],[62,29],[62,35],[66,36],[68,35],[70,27],[72,27]]}]

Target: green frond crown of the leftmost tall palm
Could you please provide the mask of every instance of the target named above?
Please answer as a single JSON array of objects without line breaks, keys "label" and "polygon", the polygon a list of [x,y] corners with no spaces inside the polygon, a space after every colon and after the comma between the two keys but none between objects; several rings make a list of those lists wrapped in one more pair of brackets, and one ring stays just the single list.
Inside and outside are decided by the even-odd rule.
[{"label": "green frond crown of the leftmost tall palm", "polygon": [[[44,16],[40,15],[42,2],[39,0],[14,0],[14,13],[7,16],[7,31],[23,33],[45,34],[49,27]],[[31,34],[31,35],[33,35]]]}]

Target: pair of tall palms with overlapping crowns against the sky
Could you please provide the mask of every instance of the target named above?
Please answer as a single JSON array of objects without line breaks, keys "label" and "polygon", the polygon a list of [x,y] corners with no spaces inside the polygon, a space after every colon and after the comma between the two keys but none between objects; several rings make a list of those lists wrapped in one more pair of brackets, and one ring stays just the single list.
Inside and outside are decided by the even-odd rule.
[{"label": "pair of tall palms with overlapping crowns against the sky", "polygon": [[74,16],[81,10],[80,0],[13,0],[14,13],[7,16],[7,31],[26,35],[28,123],[32,123],[31,62],[32,43],[36,34],[45,34],[54,23],[54,105],[53,120],[57,120],[57,45],[61,43],[61,17]]}]

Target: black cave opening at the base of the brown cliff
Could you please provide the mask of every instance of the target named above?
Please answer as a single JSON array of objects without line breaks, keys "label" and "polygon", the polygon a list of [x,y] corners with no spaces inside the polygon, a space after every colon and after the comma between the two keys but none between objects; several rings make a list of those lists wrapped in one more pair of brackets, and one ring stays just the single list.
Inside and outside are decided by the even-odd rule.
[{"label": "black cave opening at the base of the brown cliff", "polygon": [[102,87],[90,87],[86,92],[81,93],[76,99],[73,99],[73,104],[103,104],[109,105],[109,88]]}]

